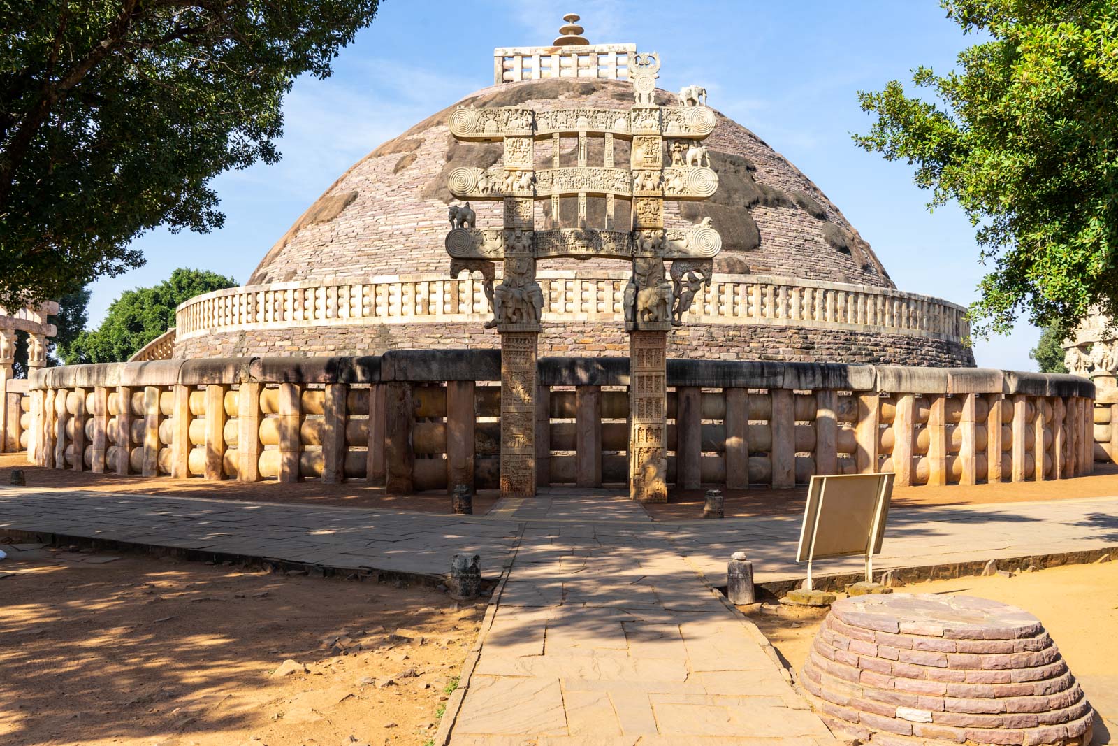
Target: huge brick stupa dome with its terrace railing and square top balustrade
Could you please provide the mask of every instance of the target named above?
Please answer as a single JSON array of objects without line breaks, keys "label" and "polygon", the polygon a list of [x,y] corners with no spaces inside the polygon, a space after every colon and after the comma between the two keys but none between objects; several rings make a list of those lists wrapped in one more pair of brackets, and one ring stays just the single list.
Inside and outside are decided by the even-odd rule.
[{"label": "huge brick stupa dome with its terrace railing and square top balustrade", "polygon": [[[568,59],[610,49],[623,60],[618,50],[629,48],[590,47],[579,39],[532,50],[537,59],[541,51]],[[447,189],[449,171],[491,167],[502,147],[456,141],[451,112],[457,106],[620,111],[632,106],[633,94],[617,74],[622,62],[613,75],[591,68],[579,69],[579,77],[547,77],[547,69],[537,68],[542,77],[521,79],[529,75],[515,77],[508,63],[518,49],[496,53],[501,82],[430,115],[342,173],[264,255],[247,286],[183,303],[174,357],[500,347],[496,332],[483,329],[491,314],[480,277],[451,277],[444,239],[447,205],[457,201]],[[521,63],[515,64],[519,75]],[[675,103],[672,93],[656,96],[659,103]],[[669,355],[974,365],[963,344],[965,309],[897,291],[870,245],[811,179],[745,126],[714,114],[717,126],[704,144],[718,189],[703,201],[667,202],[664,220],[672,228],[709,216],[722,252],[713,282],[670,336]],[[628,162],[628,147],[616,140],[617,163]],[[538,163],[550,161],[551,148],[537,141]],[[563,138],[559,164],[574,164],[576,150],[577,139]],[[601,139],[590,139],[589,162],[601,158]],[[563,220],[577,209],[575,201],[561,200]],[[538,227],[551,226],[550,207],[537,202]],[[501,225],[500,201],[476,201],[473,208],[479,227]],[[588,225],[603,225],[604,198],[590,198],[587,208]],[[615,224],[627,226],[629,202],[618,199],[615,210]],[[540,353],[624,355],[622,294],[629,273],[609,259],[540,261],[546,296]]]}]

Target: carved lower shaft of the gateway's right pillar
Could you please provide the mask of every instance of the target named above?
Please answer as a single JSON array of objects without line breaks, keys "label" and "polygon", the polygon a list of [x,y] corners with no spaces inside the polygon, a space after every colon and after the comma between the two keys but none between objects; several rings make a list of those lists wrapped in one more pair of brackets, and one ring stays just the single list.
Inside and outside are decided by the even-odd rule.
[{"label": "carved lower shaft of the gateway's right pillar", "polygon": [[667,332],[629,332],[629,497],[667,502]]}]

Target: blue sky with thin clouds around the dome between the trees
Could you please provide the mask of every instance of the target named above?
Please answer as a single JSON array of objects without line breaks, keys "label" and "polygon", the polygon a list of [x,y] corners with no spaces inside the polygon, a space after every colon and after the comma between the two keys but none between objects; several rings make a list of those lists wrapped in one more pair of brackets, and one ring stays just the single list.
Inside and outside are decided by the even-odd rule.
[{"label": "blue sky with thin clouds around the dome between the trees", "polygon": [[[659,51],[661,87],[699,83],[709,103],[756,132],[831,198],[901,290],[967,304],[983,267],[974,229],[954,206],[929,214],[904,163],[851,142],[870,117],[855,93],[920,64],[946,72],[964,37],[934,0],[800,2],[400,2],[342,50],[326,81],[301,78],[285,104],[283,160],[222,174],[226,225],[209,235],[154,230],[135,242],[148,265],[93,285],[91,324],[123,290],[178,266],[245,282],[272,244],[354,161],[411,124],[492,84],[496,46],[549,44],[565,12],[591,43]],[[401,247],[401,255],[406,247]],[[976,341],[979,366],[1035,370],[1026,322]]]}]

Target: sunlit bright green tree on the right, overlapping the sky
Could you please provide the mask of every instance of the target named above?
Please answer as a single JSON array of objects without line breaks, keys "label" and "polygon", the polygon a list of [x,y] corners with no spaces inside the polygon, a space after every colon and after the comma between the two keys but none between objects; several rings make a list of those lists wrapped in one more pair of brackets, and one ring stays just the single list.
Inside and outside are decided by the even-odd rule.
[{"label": "sunlit bright green tree on the right, overlapping the sky", "polygon": [[944,0],[964,34],[989,41],[958,70],[913,70],[929,103],[890,82],[859,93],[877,114],[854,140],[916,164],[929,209],[957,200],[993,263],[970,308],[975,332],[1021,313],[1061,338],[1092,305],[1118,302],[1118,3]]}]

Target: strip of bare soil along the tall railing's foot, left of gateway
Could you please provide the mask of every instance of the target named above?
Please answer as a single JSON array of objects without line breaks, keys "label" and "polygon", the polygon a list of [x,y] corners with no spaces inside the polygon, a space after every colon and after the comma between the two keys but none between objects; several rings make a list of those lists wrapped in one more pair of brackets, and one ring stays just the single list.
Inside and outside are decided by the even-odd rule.
[{"label": "strip of bare soil along the tall railing's foot, left of gateway", "polygon": [[[121,476],[94,474],[64,469],[42,469],[27,463],[22,453],[0,454],[0,484],[8,484],[9,470],[22,469],[28,487],[74,487],[97,492],[142,492],[145,494],[181,495],[184,498],[214,498],[220,500],[248,500],[253,502],[300,502],[347,508],[392,508],[432,513],[451,512],[451,497],[445,493],[389,494],[382,487],[366,487],[364,480],[324,484],[316,479],[296,484],[267,482],[237,482],[224,480],[208,482],[203,479],[170,479],[168,476]],[[499,493],[483,491],[474,495],[474,514],[482,516]]]}]

